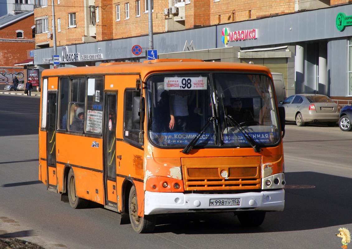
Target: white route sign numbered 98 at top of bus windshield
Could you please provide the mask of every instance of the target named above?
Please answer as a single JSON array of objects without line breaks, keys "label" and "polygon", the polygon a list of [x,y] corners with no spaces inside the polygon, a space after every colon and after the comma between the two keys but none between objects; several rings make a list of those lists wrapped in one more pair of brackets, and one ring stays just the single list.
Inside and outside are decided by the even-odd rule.
[{"label": "white route sign numbered 98 at top of bus windshield", "polygon": [[205,90],[207,77],[166,77],[165,90]]}]

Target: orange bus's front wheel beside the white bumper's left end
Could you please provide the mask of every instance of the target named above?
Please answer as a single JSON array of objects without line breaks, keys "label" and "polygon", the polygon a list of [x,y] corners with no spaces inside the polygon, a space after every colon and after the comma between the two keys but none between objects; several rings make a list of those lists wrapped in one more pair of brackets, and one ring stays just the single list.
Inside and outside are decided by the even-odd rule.
[{"label": "orange bus's front wheel beside the white bumper's left end", "polygon": [[132,186],[128,197],[128,214],[130,215],[131,225],[134,231],[139,234],[152,232],[155,228],[155,221],[151,216],[138,216],[136,188]]}]

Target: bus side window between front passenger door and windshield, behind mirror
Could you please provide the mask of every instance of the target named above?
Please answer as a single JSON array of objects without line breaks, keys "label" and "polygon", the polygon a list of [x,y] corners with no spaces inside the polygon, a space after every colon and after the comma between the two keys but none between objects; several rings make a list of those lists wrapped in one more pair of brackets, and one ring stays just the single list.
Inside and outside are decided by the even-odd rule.
[{"label": "bus side window between front passenger door and windshield, behind mirror", "polygon": [[136,114],[133,115],[132,113],[132,110],[137,110],[137,108],[133,108],[133,104],[139,104],[137,99],[140,99],[139,91],[134,89],[128,89],[125,91],[124,138],[139,143],[140,122],[139,119],[136,119]]}]

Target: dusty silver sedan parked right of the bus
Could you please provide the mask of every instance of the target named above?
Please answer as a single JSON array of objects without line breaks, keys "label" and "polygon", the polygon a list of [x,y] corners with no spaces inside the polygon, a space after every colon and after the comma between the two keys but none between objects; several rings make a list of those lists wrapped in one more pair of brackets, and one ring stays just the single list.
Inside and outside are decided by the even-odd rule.
[{"label": "dusty silver sedan parked right of the bus", "polygon": [[340,106],[321,94],[295,94],[279,106],[285,108],[285,120],[295,121],[298,126],[308,122],[326,122],[334,126],[339,121]]}]

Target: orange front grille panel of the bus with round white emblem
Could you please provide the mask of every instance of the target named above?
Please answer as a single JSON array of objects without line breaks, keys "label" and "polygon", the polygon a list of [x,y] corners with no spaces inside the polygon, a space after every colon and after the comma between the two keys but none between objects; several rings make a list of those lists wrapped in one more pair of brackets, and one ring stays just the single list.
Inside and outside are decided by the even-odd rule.
[{"label": "orange front grille panel of the bus with round white emblem", "polygon": [[185,191],[260,189],[261,157],[181,158]]}]

